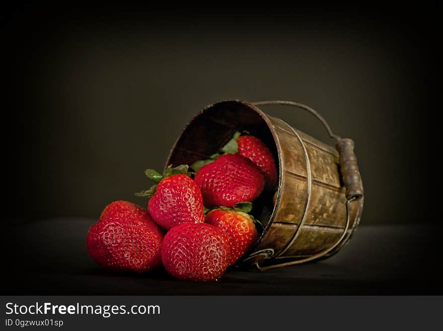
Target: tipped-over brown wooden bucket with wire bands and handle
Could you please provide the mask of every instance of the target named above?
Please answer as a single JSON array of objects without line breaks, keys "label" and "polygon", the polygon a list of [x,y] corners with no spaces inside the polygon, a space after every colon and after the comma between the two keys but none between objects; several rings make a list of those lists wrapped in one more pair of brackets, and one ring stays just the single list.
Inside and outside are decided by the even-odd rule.
[{"label": "tipped-over brown wooden bucket with wire bands and handle", "polygon": [[[266,115],[257,107],[265,104],[311,112],[337,140],[336,147]],[[236,130],[247,130],[261,139],[272,150],[279,173],[277,191],[263,193],[254,202],[254,216],[264,230],[240,264],[253,263],[259,270],[267,270],[337,252],[351,238],[363,208],[353,142],[333,135],[320,114],[299,103],[221,101],[207,106],[188,123],[165,167],[208,159]]]}]

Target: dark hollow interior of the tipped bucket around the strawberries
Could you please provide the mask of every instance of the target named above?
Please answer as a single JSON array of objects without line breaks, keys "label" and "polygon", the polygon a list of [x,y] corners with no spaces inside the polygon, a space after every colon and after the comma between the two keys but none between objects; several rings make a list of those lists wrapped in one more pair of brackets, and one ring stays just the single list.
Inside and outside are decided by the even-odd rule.
[{"label": "dark hollow interior of the tipped bucket around the strawberries", "polygon": [[[166,166],[191,164],[208,159],[233,137],[235,131],[248,131],[263,141],[274,155],[280,169],[277,145],[266,115],[257,108],[239,101],[223,101],[206,107],[186,126],[169,155]],[[274,192],[263,192],[253,202],[252,215],[266,228],[274,205]]]}]

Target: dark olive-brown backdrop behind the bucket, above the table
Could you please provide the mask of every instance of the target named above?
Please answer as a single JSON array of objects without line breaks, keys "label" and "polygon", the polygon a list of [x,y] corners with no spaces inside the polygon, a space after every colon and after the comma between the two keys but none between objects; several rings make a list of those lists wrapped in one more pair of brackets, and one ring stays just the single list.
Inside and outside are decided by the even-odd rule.
[{"label": "dark olive-brown backdrop behind the bucket, above the table", "polygon": [[[362,223],[422,222],[420,115],[435,89],[436,6],[360,6],[6,10],[11,214],[97,218],[115,200],[144,204],[133,197],[151,185],[143,170],[163,169],[197,111],[238,98],[318,110],[355,141]],[[262,109],[334,143],[302,110]]]}]

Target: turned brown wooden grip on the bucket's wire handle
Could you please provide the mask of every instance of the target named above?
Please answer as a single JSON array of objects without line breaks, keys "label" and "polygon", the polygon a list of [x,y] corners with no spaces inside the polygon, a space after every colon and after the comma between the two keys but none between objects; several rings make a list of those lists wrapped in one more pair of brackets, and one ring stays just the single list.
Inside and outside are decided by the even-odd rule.
[{"label": "turned brown wooden grip on the bucket's wire handle", "polygon": [[354,142],[349,138],[343,138],[335,145],[338,151],[341,176],[346,188],[346,198],[358,200],[363,196],[363,184],[358,171],[357,158],[354,154]]}]

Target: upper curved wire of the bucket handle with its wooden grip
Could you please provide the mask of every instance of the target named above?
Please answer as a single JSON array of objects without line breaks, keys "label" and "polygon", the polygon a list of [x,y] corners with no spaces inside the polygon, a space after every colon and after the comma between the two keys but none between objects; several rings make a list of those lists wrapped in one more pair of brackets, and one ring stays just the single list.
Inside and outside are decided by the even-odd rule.
[{"label": "upper curved wire of the bucket handle with its wooden grip", "polygon": [[323,126],[328,131],[328,135],[337,140],[335,145],[338,151],[338,163],[340,165],[340,173],[343,179],[343,184],[346,189],[345,195],[347,200],[360,200],[363,197],[363,184],[361,182],[360,172],[357,166],[357,158],[354,153],[354,142],[349,138],[340,138],[334,135],[328,122],[313,108],[298,102],[292,101],[281,101],[281,100],[269,100],[269,101],[258,101],[252,102],[254,106],[261,105],[287,105],[292,107],[298,107],[304,109],[315,117],[317,117]]}]

